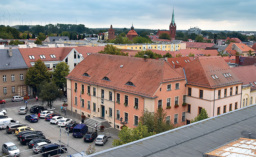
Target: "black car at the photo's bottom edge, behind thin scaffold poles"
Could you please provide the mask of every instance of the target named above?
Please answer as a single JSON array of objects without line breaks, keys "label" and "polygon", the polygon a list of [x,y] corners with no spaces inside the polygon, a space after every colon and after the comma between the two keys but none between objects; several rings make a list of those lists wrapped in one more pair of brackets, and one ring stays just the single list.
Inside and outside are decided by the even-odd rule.
[{"label": "black car at the photo's bottom edge, behind thin scaffold poles", "polygon": [[[65,152],[67,151],[67,147],[65,145],[61,145],[61,148],[64,149]],[[49,157],[49,156],[57,155],[60,153],[65,153],[62,149],[60,149],[60,145],[58,145],[58,144],[44,145],[42,147],[42,153],[43,153],[43,156]],[[54,150],[54,151],[52,151],[52,150]]]}]

